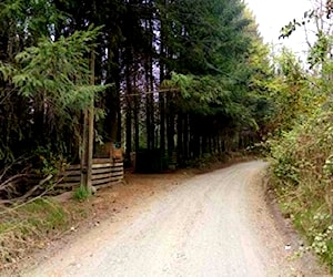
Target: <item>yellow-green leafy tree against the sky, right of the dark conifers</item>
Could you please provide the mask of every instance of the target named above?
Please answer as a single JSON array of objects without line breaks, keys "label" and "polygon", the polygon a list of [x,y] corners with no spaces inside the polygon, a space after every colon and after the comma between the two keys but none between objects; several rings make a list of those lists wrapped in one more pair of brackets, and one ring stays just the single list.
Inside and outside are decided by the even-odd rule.
[{"label": "yellow-green leafy tree against the sky, right of the dark conifers", "polygon": [[[274,57],[274,66],[252,81],[252,89],[265,101],[265,129],[275,135],[290,131],[312,115],[324,98],[313,88],[315,78],[306,74],[301,62],[287,49]],[[265,96],[264,96],[265,95]]]}]

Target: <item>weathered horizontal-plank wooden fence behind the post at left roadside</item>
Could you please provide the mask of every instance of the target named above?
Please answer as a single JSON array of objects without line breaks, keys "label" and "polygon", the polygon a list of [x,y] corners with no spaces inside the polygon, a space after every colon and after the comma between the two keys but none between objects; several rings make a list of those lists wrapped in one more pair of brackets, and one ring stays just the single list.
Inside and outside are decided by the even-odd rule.
[{"label": "weathered horizontal-plank wooden fence behind the post at left roadside", "polygon": [[[69,165],[60,174],[58,187],[77,187],[81,183],[81,166],[79,164]],[[92,185],[108,186],[123,179],[123,162],[112,158],[92,160]]]}]

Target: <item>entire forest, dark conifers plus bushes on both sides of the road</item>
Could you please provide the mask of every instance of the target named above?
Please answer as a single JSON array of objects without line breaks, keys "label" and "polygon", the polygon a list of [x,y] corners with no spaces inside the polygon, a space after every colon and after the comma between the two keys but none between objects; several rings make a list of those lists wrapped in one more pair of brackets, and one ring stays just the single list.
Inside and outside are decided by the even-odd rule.
[{"label": "entire forest, dark conifers plus bushes on both sides of the road", "polygon": [[0,201],[79,163],[89,127],[93,156],[114,144],[148,171],[252,150],[333,267],[332,13],[313,1],[281,27],[313,23],[301,62],[271,51],[241,0],[2,0]]}]

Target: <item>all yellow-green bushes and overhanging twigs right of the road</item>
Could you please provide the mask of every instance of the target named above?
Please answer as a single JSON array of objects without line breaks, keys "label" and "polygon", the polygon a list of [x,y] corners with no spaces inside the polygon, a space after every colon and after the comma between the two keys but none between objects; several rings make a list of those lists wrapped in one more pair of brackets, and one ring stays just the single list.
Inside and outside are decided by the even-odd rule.
[{"label": "all yellow-green bushes and overhanging twigs right of the road", "polygon": [[[332,2],[314,6],[304,18],[292,21],[283,35],[310,22],[317,27],[317,40],[311,44],[309,71],[297,63],[283,66],[287,98],[282,124],[268,142],[271,156],[271,183],[286,217],[306,238],[307,246],[333,271],[333,62]],[[309,27],[310,28],[310,27]]]}]

